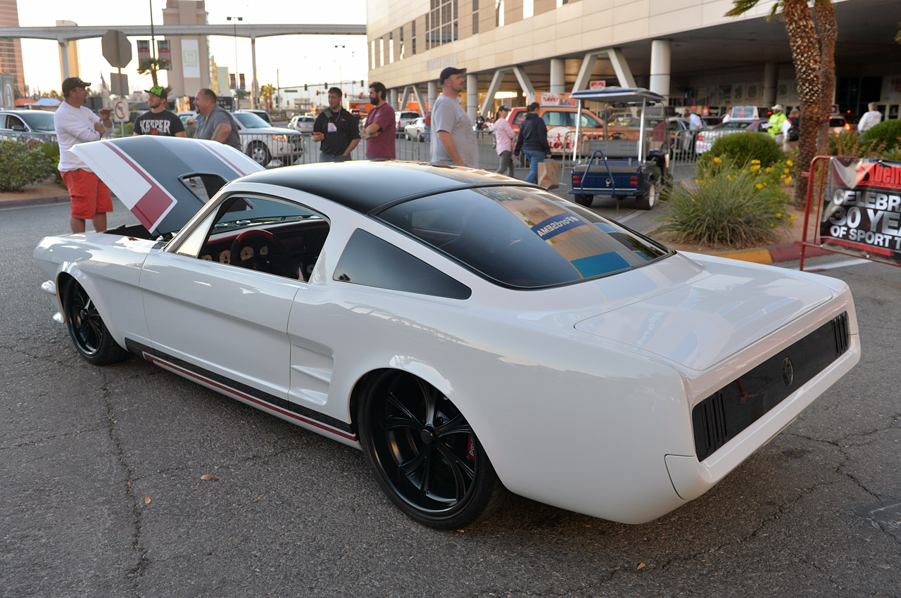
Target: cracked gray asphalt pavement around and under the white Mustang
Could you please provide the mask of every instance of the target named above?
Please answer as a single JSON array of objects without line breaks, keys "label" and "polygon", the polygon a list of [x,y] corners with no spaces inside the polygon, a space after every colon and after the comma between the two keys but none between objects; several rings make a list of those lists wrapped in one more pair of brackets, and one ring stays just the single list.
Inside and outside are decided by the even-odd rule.
[{"label": "cracked gray asphalt pavement around and under the white Mustang", "polygon": [[78,358],[32,263],[67,219],[0,210],[0,598],[901,596],[899,268],[825,273],[851,285],[860,364],[695,501],[626,526],[514,497],[438,532],[357,450],[137,359]]}]

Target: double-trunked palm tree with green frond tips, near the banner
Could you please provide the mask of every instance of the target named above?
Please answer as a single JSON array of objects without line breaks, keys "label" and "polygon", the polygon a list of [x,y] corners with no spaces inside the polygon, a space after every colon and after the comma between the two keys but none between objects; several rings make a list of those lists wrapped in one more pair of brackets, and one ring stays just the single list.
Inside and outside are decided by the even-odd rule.
[{"label": "double-trunked palm tree with green frond tips, near the banner", "polygon": [[[726,16],[739,16],[760,0],[733,0]],[[835,21],[833,0],[777,0],[768,20],[777,14],[786,23],[788,45],[795,65],[797,92],[801,97],[801,138],[798,143],[799,168],[806,168],[817,154],[825,154],[829,144],[829,113],[835,90]],[[798,177],[795,204],[805,204],[807,179]]]}]

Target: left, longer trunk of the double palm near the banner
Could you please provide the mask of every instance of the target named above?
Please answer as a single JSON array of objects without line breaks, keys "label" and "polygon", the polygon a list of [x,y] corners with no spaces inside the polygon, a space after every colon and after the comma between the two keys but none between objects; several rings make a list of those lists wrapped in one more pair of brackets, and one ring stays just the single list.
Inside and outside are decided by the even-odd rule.
[{"label": "left, longer trunk of the double palm near the banner", "polygon": [[[798,142],[797,168],[804,171],[817,153],[817,131],[820,125],[820,45],[817,42],[814,14],[807,0],[785,0],[782,16],[786,22],[788,45],[795,65],[797,93],[801,98],[801,137]],[[795,204],[804,206],[807,179],[797,177]]]}]

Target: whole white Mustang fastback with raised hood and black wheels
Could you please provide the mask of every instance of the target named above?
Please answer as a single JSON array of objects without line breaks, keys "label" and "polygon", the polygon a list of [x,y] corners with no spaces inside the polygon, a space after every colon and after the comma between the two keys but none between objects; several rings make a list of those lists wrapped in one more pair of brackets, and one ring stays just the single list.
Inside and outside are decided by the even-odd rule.
[{"label": "whole white Mustang fastback with raised hood and black wheels", "polygon": [[651,521],[860,358],[842,281],[677,253],[482,170],[260,171],[149,136],[74,151],[141,222],[34,251],[78,352],[360,447],[434,528],[508,491]]}]

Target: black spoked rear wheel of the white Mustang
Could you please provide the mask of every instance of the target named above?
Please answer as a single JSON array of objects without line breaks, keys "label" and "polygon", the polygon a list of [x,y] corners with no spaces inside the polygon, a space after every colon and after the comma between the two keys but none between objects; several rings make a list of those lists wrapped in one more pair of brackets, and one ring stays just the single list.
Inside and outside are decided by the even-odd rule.
[{"label": "black spoked rear wheel of the white Mustang", "polygon": [[416,376],[376,376],[357,421],[378,485],[414,521],[459,530],[506,503],[509,493],[462,413]]}]

